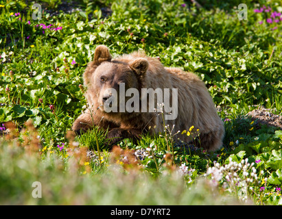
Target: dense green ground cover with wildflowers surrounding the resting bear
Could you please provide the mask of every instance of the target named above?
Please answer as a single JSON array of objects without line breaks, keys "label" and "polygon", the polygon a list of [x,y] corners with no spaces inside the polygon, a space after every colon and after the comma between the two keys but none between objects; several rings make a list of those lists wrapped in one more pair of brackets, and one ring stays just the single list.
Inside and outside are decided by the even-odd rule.
[{"label": "dense green ground cover with wildflowers surrounding the resting bear", "polygon": [[[239,20],[239,1],[198,2],[0,1],[0,203],[282,204],[282,131],[246,116],[282,112],[282,5],[246,1]],[[175,146],[166,127],[113,151],[96,129],[73,136],[98,44],[113,56],[143,49],[201,77],[224,120],[224,147]],[[43,198],[32,196],[34,181]]]}]

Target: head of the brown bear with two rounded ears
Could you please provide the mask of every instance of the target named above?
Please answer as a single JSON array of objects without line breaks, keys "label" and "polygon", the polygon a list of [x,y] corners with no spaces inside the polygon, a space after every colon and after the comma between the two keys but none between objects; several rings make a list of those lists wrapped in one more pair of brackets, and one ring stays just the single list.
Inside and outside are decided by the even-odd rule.
[{"label": "head of the brown bear with two rounded ears", "polygon": [[88,98],[92,99],[92,103],[98,103],[102,112],[126,112],[119,108],[119,103],[130,99],[125,95],[128,89],[136,88],[140,92],[148,66],[148,60],[144,57],[113,60],[108,47],[99,45],[95,49],[93,62],[89,63],[84,73]]}]

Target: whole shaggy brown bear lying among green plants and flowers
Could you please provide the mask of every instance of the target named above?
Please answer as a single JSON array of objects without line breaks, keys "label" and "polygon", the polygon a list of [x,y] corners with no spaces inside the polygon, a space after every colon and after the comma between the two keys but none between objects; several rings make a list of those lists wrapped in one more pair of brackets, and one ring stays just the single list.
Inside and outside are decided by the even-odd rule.
[{"label": "whole shaggy brown bear lying among green plants and flowers", "polygon": [[[89,109],[73,123],[76,133],[98,126],[108,129],[108,138],[115,144],[123,138],[139,138],[142,133],[161,133],[166,125],[175,140],[189,143],[198,136],[198,146],[205,150],[215,151],[222,146],[224,125],[206,86],[193,73],[164,67],[157,58],[141,51],[112,59],[108,47],[99,45],[83,78]],[[121,88],[126,92],[124,98],[120,96]],[[150,92],[143,94],[146,89],[153,90],[153,97],[161,101],[148,98]],[[130,101],[129,90],[140,95]],[[168,101],[167,105],[157,107],[162,101]],[[126,110],[121,103],[126,103]],[[116,111],[107,110],[113,106]],[[170,115],[163,110],[165,107]],[[187,132],[181,133],[183,130]]]}]

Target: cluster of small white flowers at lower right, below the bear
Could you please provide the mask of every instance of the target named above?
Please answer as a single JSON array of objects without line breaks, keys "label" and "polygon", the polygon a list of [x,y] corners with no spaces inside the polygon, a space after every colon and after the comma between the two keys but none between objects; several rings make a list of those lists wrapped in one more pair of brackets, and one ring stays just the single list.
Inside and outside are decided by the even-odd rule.
[{"label": "cluster of small white flowers at lower right, below the bear", "polygon": [[248,158],[242,159],[239,164],[230,161],[224,166],[214,162],[214,166],[208,168],[205,176],[211,176],[213,183],[218,185],[221,182],[224,189],[237,194],[242,201],[247,201],[249,192],[253,190],[250,184],[256,183],[258,179],[254,165],[255,163],[248,163]]}]

